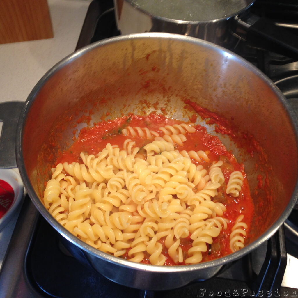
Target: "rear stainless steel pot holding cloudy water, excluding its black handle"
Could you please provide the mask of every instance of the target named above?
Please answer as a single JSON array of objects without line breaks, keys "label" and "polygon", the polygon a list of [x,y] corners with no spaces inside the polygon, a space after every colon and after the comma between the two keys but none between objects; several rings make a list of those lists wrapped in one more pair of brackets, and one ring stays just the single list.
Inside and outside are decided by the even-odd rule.
[{"label": "rear stainless steel pot holding cloudy water, excluding its black handle", "polygon": [[[136,2],[151,3],[150,10],[145,10]],[[160,6],[170,7],[173,5],[173,1],[114,0],[116,24],[121,34],[169,32],[201,38],[230,48],[235,45],[238,39],[231,34],[233,18],[248,10],[254,0],[236,1],[240,2],[240,5],[235,5],[234,0],[217,1],[217,7],[218,4],[223,2],[222,11],[218,11],[217,7],[209,4],[209,1],[196,2],[199,3],[198,6],[202,6],[200,7],[202,17],[197,20],[192,18],[184,20],[174,18],[175,14],[173,12],[170,15],[165,14],[166,8],[164,8],[164,13],[154,9],[154,4],[159,3]],[[179,3],[179,1],[175,3]],[[183,6],[187,5],[185,1],[180,1],[180,3]],[[233,5],[235,6],[234,9],[232,8]],[[213,13],[214,10],[218,13]],[[177,14],[179,15],[179,13]]]}]

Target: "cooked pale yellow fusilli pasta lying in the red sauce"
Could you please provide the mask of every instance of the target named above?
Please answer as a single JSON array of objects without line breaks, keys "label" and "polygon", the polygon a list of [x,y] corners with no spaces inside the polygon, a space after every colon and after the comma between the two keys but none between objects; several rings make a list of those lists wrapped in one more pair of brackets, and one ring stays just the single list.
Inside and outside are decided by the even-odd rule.
[{"label": "cooked pale yellow fusilli pasta lying in the red sauce", "polygon": [[[159,132],[127,127],[123,148],[108,143],[97,155],[81,153],[81,164],[57,164],[44,205],[68,231],[116,257],[142,262],[149,256],[151,264],[164,265],[168,254],[175,264],[199,263],[229,220],[224,204],[212,201],[225,181],[223,162],[205,169],[195,162],[208,162],[206,152],[177,149],[195,131],[185,123]],[[134,137],[150,140],[143,154]],[[242,185],[241,172],[234,171],[226,193],[237,197]],[[242,220],[243,215],[230,235],[232,252],[244,246]],[[183,238],[192,242],[186,255]]]}]

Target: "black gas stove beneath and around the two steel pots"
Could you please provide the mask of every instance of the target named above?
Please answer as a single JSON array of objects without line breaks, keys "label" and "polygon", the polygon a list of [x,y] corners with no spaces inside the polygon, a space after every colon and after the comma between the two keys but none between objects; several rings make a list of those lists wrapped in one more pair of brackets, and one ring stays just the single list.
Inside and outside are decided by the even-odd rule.
[{"label": "black gas stove beneath and around the two steel pots", "polygon": [[[298,39],[296,1],[256,1],[254,13],[289,26]],[[119,35],[113,1],[90,3],[76,46]],[[298,117],[298,57],[239,41],[231,49],[273,80]],[[297,297],[298,207],[268,241],[209,280],[170,291],[118,285],[73,257],[62,237],[25,197],[0,272],[0,297]]]}]

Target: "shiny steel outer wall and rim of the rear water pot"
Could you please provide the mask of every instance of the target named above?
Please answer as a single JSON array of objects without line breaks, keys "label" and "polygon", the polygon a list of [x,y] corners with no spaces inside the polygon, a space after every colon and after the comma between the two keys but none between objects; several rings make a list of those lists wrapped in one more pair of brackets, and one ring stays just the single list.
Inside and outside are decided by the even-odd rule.
[{"label": "shiny steel outer wall and rim of the rear water pot", "polygon": [[[208,1],[205,1],[208,3]],[[220,1],[232,5],[233,1]],[[234,1],[235,2],[235,1]],[[238,38],[232,35],[233,18],[248,10],[254,3],[252,0],[242,1],[242,8],[237,11],[230,10],[225,17],[184,21],[165,18],[159,15],[142,10],[131,0],[114,0],[115,16],[118,30],[121,34],[142,33],[142,32],[169,32],[192,37],[201,38],[226,48],[232,48]],[[240,7],[240,6],[238,6]],[[202,8],[206,14],[214,10],[212,5],[204,5]],[[209,13],[209,14],[212,14]]]}]

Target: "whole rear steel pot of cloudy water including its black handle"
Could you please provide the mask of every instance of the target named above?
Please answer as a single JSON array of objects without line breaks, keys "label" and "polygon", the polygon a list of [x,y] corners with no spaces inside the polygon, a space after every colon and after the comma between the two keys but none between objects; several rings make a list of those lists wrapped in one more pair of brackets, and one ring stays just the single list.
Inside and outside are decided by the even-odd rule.
[{"label": "whole rear steel pot of cloudy water including its black handle", "polygon": [[[274,49],[282,55],[298,57],[297,35],[283,24],[277,24],[266,17],[251,13],[255,0],[220,0],[220,1],[146,1],[114,0],[117,28],[121,34],[142,32],[169,32],[193,36],[233,49],[239,40],[249,46]],[[147,6],[144,6],[148,4]],[[181,13],[176,10],[195,3],[198,19],[179,19]],[[150,5],[149,5],[150,4]],[[158,10],[154,5],[164,6]],[[167,14],[167,10],[169,13]],[[190,11],[195,15],[195,11]]]}]

